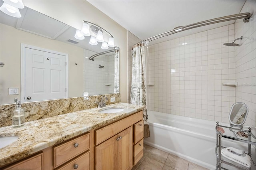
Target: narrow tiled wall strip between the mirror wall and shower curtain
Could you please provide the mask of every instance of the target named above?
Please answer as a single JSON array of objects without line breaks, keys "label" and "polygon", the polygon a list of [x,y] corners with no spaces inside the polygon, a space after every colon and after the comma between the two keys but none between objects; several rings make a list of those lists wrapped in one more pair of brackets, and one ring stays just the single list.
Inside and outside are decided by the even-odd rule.
[{"label": "narrow tiled wall strip between the mirror wall and shower curtain", "polygon": [[132,46],[141,40],[134,36],[131,32],[127,31],[127,77],[128,77],[128,87],[127,87],[127,103],[131,103],[131,83],[132,83]]}]

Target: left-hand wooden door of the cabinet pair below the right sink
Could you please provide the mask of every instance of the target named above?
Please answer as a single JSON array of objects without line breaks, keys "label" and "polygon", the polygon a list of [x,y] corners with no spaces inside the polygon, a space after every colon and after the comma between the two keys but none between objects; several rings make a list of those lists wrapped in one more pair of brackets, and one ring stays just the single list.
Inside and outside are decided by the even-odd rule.
[{"label": "left-hand wooden door of the cabinet pair below the right sink", "polygon": [[106,140],[95,147],[95,169],[118,169],[118,135]]}]

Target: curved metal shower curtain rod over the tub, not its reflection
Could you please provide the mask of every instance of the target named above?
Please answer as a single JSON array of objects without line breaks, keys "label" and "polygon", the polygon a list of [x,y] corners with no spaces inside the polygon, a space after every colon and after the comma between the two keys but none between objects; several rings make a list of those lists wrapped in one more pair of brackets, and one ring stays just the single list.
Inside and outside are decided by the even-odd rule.
[{"label": "curved metal shower curtain rod over the tub, not its reflection", "polygon": [[179,27],[174,28],[173,30],[164,32],[162,34],[158,34],[158,35],[153,36],[153,37],[150,37],[150,38],[148,38],[146,40],[143,40],[139,43],[142,43],[142,42],[145,42],[145,41],[150,42],[150,41],[156,40],[158,38],[162,38],[162,37],[165,37],[165,36],[175,34],[177,32],[182,32],[182,31],[185,31],[185,30],[190,30],[192,28],[198,28],[198,27],[201,27],[201,26],[207,26],[207,25],[210,25],[210,24],[216,24],[216,23],[219,23],[219,22],[238,20],[238,19],[242,19],[242,18],[244,18],[244,22],[249,22],[250,16],[251,16],[251,14],[249,12],[246,12],[246,13],[241,13],[241,14],[223,16],[223,17],[220,17],[220,18],[214,18],[214,19],[206,20],[206,21],[202,21],[202,22],[197,22],[197,23],[190,24],[190,25],[187,25],[187,26],[179,26]]}]

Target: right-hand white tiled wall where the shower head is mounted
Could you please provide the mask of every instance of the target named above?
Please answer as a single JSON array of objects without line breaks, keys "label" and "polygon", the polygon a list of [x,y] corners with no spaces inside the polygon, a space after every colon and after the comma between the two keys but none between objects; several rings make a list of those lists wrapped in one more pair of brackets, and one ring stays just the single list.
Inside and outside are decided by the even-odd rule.
[{"label": "right-hand white tiled wall where the shower head is mounted", "polygon": [[250,22],[235,22],[235,37],[240,46],[235,50],[236,61],[236,102],[246,103],[249,107],[246,123],[256,127],[256,1],[246,1],[241,13],[250,12]]}]

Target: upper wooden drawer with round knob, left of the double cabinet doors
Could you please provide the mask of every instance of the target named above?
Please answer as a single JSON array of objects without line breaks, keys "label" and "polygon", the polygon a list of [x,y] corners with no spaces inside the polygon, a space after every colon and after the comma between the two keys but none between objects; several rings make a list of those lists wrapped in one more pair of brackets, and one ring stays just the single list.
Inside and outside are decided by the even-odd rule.
[{"label": "upper wooden drawer with round knob, left of the double cabinet doors", "polygon": [[54,168],[64,164],[68,160],[78,156],[78,154],[90,148],[90,133],[78,136],[67,142],[53,147]]}]

